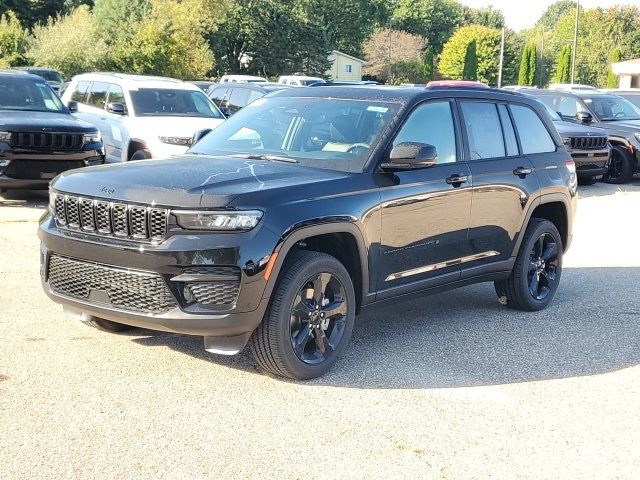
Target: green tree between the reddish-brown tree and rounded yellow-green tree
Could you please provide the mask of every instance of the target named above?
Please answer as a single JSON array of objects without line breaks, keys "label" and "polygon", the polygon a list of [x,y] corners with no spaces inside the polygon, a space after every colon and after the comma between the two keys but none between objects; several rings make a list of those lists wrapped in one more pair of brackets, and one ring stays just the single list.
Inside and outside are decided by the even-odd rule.
[{"label": "green tree between the reddish-brown tree and rounded yellow-green tree", "polygon": [[456,0],[398,0],[393,18],[397,28],[425,38],[439,54],[462,22],[462,6]]}]

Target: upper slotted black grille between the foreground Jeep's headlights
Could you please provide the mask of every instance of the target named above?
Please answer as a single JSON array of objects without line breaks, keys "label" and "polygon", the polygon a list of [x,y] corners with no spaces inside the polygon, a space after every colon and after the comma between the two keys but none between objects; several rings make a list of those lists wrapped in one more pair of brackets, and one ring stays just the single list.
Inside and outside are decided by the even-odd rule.
[{"label": "upper slotted black grille between the foreground Jeep's headlights", "polygon": [[56,194],[58,225],[99,235],[160,241],[167,235],[169,210]]}]

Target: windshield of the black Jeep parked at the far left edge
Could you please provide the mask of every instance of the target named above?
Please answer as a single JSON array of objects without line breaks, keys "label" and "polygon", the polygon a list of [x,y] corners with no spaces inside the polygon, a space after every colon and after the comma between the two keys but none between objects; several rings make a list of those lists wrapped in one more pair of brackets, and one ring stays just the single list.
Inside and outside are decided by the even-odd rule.
[{"label": "windshield of the black Jeep parked at the far left edge", "polygon": [[58,96],[44,80],[0,77],[0,110],[66,112]]}]

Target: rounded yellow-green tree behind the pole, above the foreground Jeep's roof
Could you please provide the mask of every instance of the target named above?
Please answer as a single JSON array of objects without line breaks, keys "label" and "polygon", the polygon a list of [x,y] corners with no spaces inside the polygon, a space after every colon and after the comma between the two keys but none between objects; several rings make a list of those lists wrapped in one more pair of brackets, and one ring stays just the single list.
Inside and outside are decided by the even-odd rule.
[{"label": "rounded yellow-green tree behind the pole, above the foreground Jeep's roof", "polygon": [[[477,78],[481,82],[495,85],[498,80],[501,37],[502,32],[497,28],[481,25],[468,25],[459,28],[442,50],[438,70],[444,77],[461,80],[467,47],[475,41],[478,59]],[[520,45],[521,42],[517,36],[507,30],[502,75],[505,84],[514,83],[517,79],[517,52],[521,48]]]}]

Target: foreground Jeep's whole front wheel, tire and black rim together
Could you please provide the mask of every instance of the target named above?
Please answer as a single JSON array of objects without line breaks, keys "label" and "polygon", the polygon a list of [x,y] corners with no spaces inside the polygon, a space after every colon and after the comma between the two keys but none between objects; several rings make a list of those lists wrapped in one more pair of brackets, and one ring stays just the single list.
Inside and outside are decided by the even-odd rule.
[{"label": "foreground Jeep's whole front wheel, tire and black rim together", "polygon": [[[336,258],[306,251],[295,255],[284,267],[249,346],[262,370],[309,380],[329,371],[346,348],[356,298],[351,277]],[[338,313],[325,317],[325,312]]]}]

